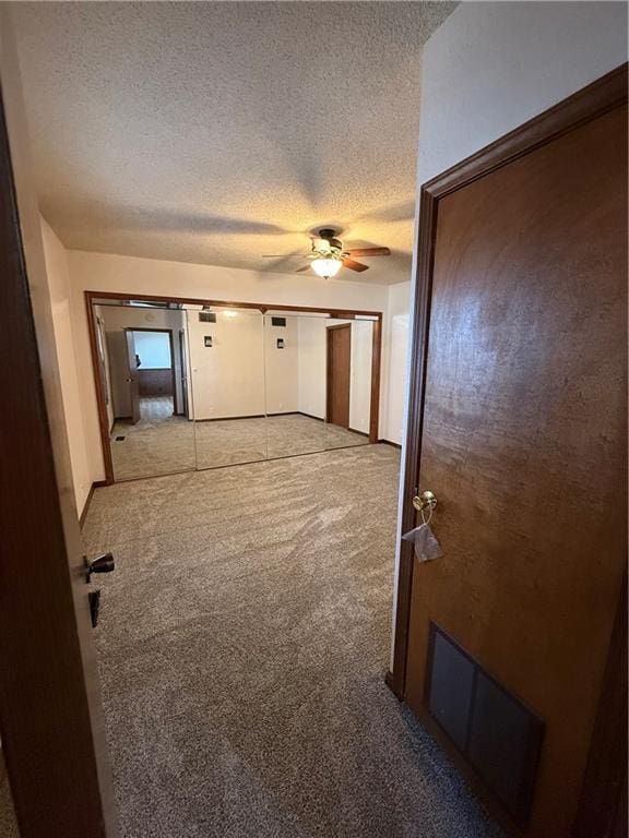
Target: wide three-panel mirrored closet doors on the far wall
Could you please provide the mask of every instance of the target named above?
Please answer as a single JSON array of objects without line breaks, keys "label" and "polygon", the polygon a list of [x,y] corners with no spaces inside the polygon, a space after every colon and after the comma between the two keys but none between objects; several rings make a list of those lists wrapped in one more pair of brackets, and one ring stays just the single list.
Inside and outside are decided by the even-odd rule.
[{"label": "wide three-panel mirrored closet doors on the far wall", "polygon": [[115,481],[373,439],[376,319],[106,295],[91,310]]}]

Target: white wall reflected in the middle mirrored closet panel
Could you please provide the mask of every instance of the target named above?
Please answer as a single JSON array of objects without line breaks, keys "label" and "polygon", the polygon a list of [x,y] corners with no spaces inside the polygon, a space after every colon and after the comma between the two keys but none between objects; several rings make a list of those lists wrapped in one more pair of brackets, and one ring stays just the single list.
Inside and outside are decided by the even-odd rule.
[{"label": "white wall reflected in the middle mirrored closet panel", "polygon": [[[188,311],[191,418],[264,414],[264,331],[260,312],[216,312],[216,323]],[[205,337],[212,346],[205,346]]]}]

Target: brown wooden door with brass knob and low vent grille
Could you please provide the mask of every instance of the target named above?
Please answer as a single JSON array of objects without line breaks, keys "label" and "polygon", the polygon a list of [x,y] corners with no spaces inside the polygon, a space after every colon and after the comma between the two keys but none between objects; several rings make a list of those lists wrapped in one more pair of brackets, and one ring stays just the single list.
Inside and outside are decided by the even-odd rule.
[{"label": "brown wooden door with brass knob and low vent grille", "polygon": [[413,567],[406,699],[535,838],[570,834],[626,573],[626,120],[437,211],[418,488],[443,554]]}]

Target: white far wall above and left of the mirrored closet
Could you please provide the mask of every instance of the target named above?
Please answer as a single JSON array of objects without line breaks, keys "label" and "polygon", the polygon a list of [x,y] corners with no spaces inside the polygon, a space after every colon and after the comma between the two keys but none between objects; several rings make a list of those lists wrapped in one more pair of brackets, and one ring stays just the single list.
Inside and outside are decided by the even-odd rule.
[{"label": "white far wall above and left of the mirrored closet", "polygon": [[[387,286],[316,276],[259,274],[254,271],[164,262],[109,253],[68,251],[73,289],[72,314],[76,356],[90,358],[85,318],[85,290],[180,296],[199,300],[268,302],[282,306],[351,308],[364,311],[387,310]],[[383,386],[385,383],[385,371]],[[96,396],[91,364],[84,361],[80,376],[86,447],[93,480],[104,478]],[[383,426],[381,430],[383,429]]]}]

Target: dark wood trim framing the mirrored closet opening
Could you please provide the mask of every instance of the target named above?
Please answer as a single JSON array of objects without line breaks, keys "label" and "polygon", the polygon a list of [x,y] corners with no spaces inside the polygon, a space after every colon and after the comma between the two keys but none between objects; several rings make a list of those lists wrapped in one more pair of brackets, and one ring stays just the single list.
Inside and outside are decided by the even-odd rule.
[{"label": "dark wood trim framing the mirrored closet opening", "polygon": [[[265,314],[272,311],[294,311],[295,313],[327,314],[331,319],[359,320],[360,318],[373,318],[369,321],[373,324],[372,351],[371,351],[371,404],[369,409],[369,442],[379,442],[380,426],[380,382],[382,367],[382,316],[381,311],[366,311],[363,309],[331,309],[312,306],[275,306],[264,302],[230,302],[226,300],[203,300],[193,297],[165,297],[158,294],[129,294],[128,291],[84,291],[85,307],[87,311],[87,331],[90,333],[90,350],[92,357],[92,371],[96,405],[98,409],[98,427],[100,429],[100,447],[103,451],[103,466],[105,469],[104,486],[111,486],[114,478],[114,460],[109,446],[109,429],[107,428],[107,407],[105,388],[98,373],[98,350],[96,345],[96,328],[92,312],[98,300],[145,300],[154,302],[173,302],[180,306],[215,306],[229,309],[256,309]],[[137,330],[135,330],[137,331]],[[156,332],[158,330],[151,330]],[[188,386],[190,382],[188,381]]]}]

